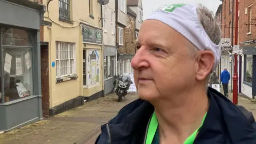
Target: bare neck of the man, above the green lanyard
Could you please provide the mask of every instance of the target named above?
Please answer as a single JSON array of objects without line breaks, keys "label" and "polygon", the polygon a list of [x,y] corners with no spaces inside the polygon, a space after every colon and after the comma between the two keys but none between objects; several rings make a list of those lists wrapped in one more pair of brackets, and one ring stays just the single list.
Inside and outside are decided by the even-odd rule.
[{"label": "bare neck of the man, above the green lanyard", "polygon": [[198,91],[198,89],[175,97],[175,100],[170,98],[155,103],[155,113],[160,140],[183,143],[201,125],[209,108],[209,101],[206,90]]}]

